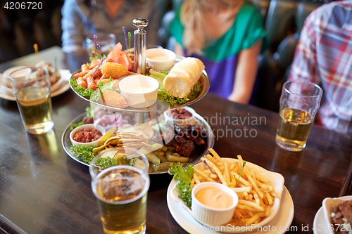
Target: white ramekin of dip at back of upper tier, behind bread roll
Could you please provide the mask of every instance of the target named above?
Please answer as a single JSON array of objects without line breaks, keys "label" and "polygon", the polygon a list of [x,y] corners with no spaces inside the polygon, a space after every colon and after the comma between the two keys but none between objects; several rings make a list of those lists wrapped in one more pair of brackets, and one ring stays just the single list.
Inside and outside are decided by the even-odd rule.
[{"label": "white ramekin of dip at back of upper tier, behind bread roll", "polygon": [[176,54],[166,48],[149,48],[146,50],[146,63],[158,72],[170,71],[175,65]]}]

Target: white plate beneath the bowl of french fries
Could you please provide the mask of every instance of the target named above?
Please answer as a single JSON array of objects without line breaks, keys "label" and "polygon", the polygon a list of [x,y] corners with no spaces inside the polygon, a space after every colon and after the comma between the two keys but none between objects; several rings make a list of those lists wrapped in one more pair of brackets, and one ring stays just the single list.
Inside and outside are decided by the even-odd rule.
[{"label": "white plate beneath the bowl of french fries", "polygon": [[[191,214],[189,214],[175,200],[172,199],[171,189],[173,188],[173,186],[175,186],[175,184],[176,184],[176,181],[172,180],[168,187],[168,193],[167,193],[166,199],[167,199],[168,208],[170,210],[172,217],[175,219],[175,221],[177,221],[178,224],[180,224],[182,228],[184,228],[184,230],[187,230],[187,232],[189,233],[204,233],[204,234],[232,232],[234,228],[232,229],[231,227],[229,228],[230,230],[224,230],[223,232],[218,232],[216,230],[213,230],[215,227],[212,227],[212,228],[206,227],[206,226],[203,226],[198,221],[196,221],[191,216]],[[286,232],[286,229],[287,230],[289,229],[289,226],[291,225],[292,220],[294,219],[294,202],[292,201],[291,195],[289,194],[289,191],[287,190],[287,188],[285,187],[283,188],[284,190],[281,195],[281,202],[276,216],[270,222],[266,223],[265,226],[262,226],[261,229],[259,227],[257,231],[253,231],[250,233],[282,234]],[[232,233],[238,233],[238,232],[234,229]]]}]

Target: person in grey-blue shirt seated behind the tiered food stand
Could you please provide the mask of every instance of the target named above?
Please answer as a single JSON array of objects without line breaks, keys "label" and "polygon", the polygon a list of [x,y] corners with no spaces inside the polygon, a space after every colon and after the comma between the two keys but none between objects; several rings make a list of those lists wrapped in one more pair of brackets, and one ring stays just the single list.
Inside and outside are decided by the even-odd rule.
[{"label": "person in grey-blue shirt seated behind the tiered food stand", "polygon": [[[62,49],[65,53],[87,55],[84,49],[86,37],[99,32],[113,33],[116,42],[125,49],[125,31],[137,30],[132,23],[134,18],[146,18],[146,41],[148,44],[158,44],[159,28],[158,4],[156,0],[65,0],[61,10],[63,15]],[[98,39],[99,41],[99,39]]]}]

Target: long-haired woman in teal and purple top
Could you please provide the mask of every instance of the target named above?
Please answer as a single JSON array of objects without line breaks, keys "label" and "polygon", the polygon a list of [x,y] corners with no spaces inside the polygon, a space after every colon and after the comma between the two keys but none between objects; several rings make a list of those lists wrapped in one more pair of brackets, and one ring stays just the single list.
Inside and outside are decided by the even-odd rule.
[{"label": "long-haired woman in teal and purple top", "polygon": [[185,0],[170,27],[175,53],[196,57],[206,66],[210,93],[249,103],[266,33],[249,2]]}]

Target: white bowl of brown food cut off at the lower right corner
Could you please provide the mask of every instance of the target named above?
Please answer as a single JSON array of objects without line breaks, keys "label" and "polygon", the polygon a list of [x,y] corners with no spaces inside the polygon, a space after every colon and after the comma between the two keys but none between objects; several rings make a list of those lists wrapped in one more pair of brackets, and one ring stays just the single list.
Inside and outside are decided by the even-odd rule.
[{"label": "white bowl of brown food cut off at the lower right corner", "polygon": [[[331,198],[331,197],[327,197],[324,200],[322,200],[322,210],[324,211],[324,217],[325,217],[325,221],[327,223],[327,227],[332,227],[332,216],[331,213],[332,212],[337,212],[338,210],[338,205],[341,202],[345,202],[347,200],[351,200],[352,201],[352,196],[345,196],[345,197],[335,197],[335,198]],[[330,234],[334,234],[334,231],[331,230],[330,228],[327,228],[327,232]]]}]

